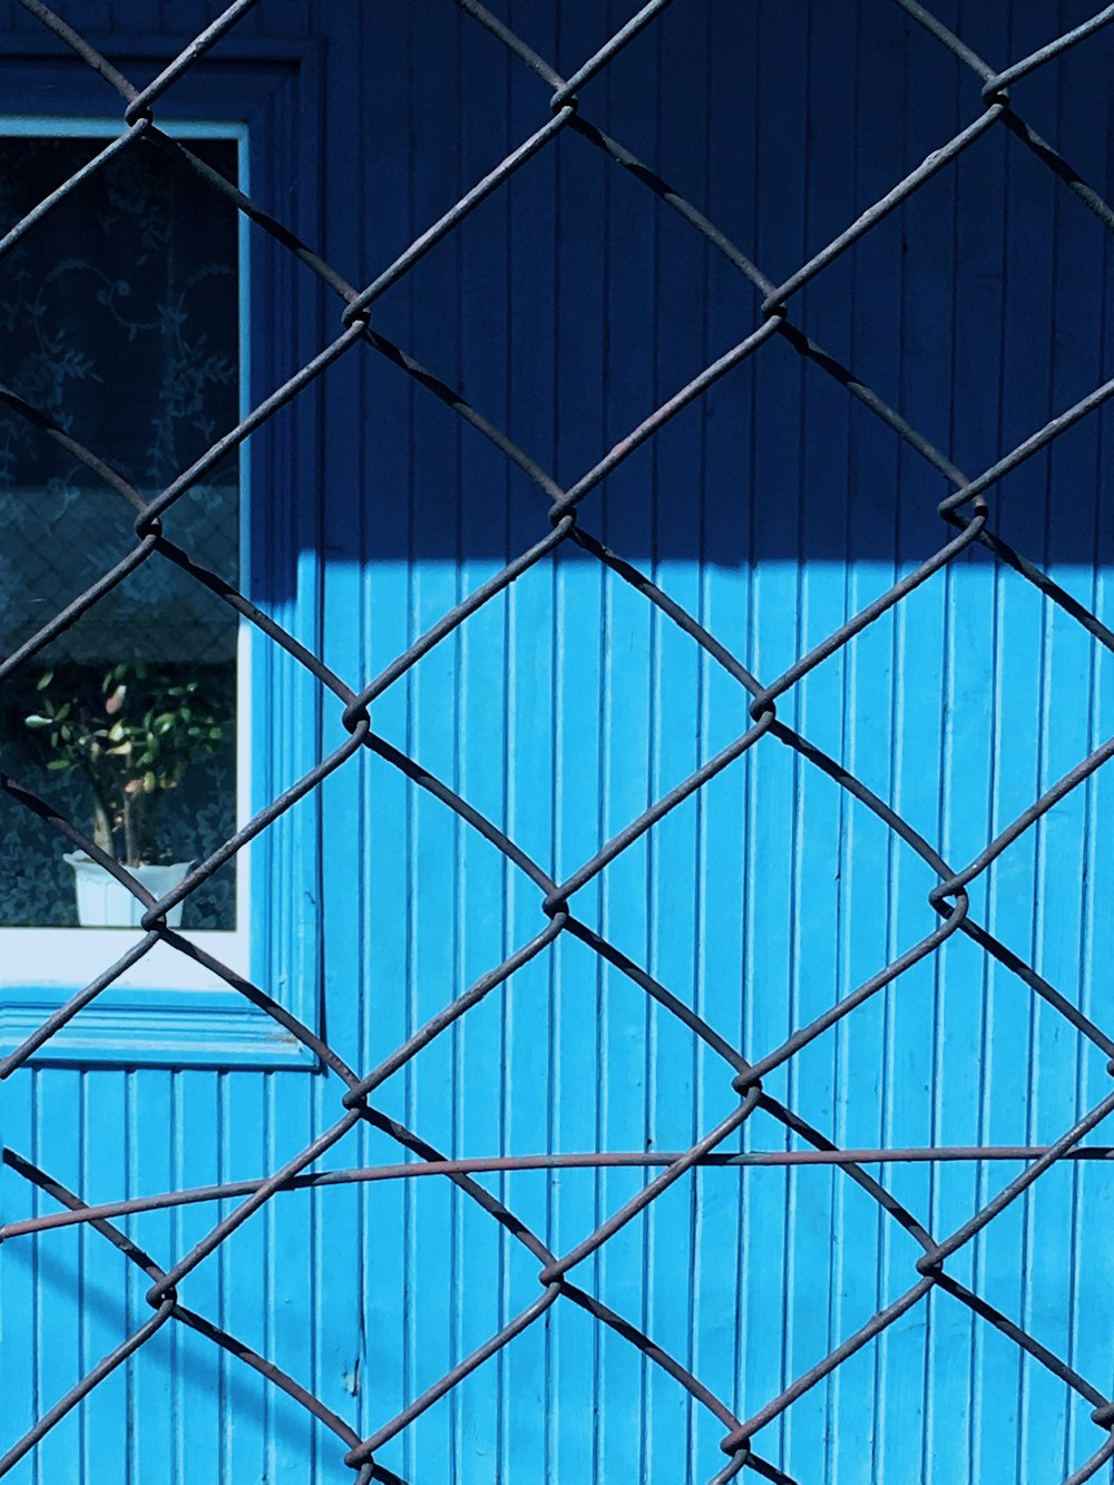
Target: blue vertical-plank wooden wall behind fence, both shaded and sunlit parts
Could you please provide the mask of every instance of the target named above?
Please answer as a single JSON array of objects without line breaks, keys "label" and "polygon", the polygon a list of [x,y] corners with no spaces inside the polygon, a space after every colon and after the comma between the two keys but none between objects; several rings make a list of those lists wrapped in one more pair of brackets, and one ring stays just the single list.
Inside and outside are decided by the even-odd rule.
[{"label": "blue vertical-plank wooden wall behind fence, both shaded and sunlit parts", "polygon": [[[168,34],[190,9],[159,7]],[[628,10],[496,9],[566,74]],[[1006,65],[1089,6],[936,10]],[[140,0],[71,0],[64,13],[110,52],[156,30]],[[0,16],[18,49],[31,19]],[[306,34],[325,39],[316,178],[303,162],[284,181],[278,159],[257,189],[279,217],[294,196],[303,217],[316,209],[325,255],[365,282],[544,122],[548,95],[447,0],[261,0],[214,56],[297,55]],[[1098,37],[1017,89],[1025,117],[1105,192],[1110,76]],[[976,79],[884,0],[677,0],[582,99],[775,281],[980,107]],[[795,318],[974,475],[1110,374],[1110,252],[1102,224],[998,131],[829,269]],[[389,291],[374,324],[569,484],[758,310],[685,223],[566,134]],[[290,370],[339,312],[299,279],[276,321],[300,337]],[[542,536],[545,500],[370,350],[313,396],[318,453],[276,493],[310,512],[309,535],[288,590],[255,595],[309,613],[325,659],[356,682]],[[995,530],[1107,622],[1110,437],[1092,417],[991,493]],[[943,544],[946,493],[775,339],[590,496],[581,521],[769,680]],[[1113,679],[1098,642],[974,548],[795,688],[781,716],[958,866],[1110,735]],[[564,546],[429,653],[373,722],[560,879],[743,732],[747,701],[645,598]],[[343,737],[337,710],[321,704],[321,748]],[[267,720],[281,728],[285,714],[276,705]],[[971,890],[971,915],[1107,1026],[1113,789],[1099,772]],[[324,930],[325,1032],[356,1068],[544,924],[532,882],[370,754],[324,786],[321,848],[319,900],[303,912]],[[575,909],[753,1060],[928,933],[934,882],[867,809],[766,738]],[[1038,1145],[1108,1081],[1095,1047],[955,937],[766,1089],[847,1146]],[[566,936],[376,1100],[446,1152],[524,1154],[686,1148],[735,1094],[720,1059]],[[7,1146],[108,1200],[278,1167],[333,1123],[339,1084],[48,1060],[4,1086],[0,1109]],[[786,1140],[766,1115],[746,1127],[746,1148]],[[327,1163],[397,1158],[364,1130]],[[946,1234],[1019,1169],[887,1166],[882,1179]],[[4,1216],[33,1210],[4,1179]],[[643,1175],[484,1179],[560,1252]],[[169,1262],[214,1219],[211,1206],[183,1207],[131,1231]],[[1114,1167],[1063,1164],[949,1265],[1104,1393],[1113,1221]],[[909,1287],[918,1253],[839,1172],[707,1170],[576,1277],[746,1417]],[[425,1179],[281,1195],[183,1299],[367,1435],[524,1308],[536,1270],[474,1203]],[[97,1234],[4,1243],[0,1445],[140,1322],[141,1289]],[[1099,1445],[1089,1411],[937,1293],[755,1442],[801,1485],[1037,1485]],[[380,1460],[420,1485],[676,1485],[720,1467],[722,1433],[621,1336],[558,1302]],[[342,1454],[288,1399],[168,1326],[10,1478],[331,1485],[351,1479]]]}]

